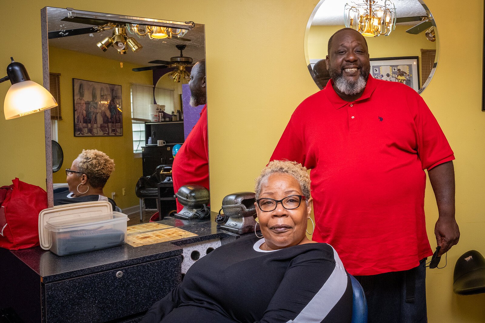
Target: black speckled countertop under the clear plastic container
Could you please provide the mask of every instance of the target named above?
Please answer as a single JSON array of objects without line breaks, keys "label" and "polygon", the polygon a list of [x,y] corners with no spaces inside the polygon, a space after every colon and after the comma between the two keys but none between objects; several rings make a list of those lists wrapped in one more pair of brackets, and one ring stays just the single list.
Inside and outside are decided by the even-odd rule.
[{"label": "black speckled countertop under the clear plastic container", "polygon": [[[194,222],[196,221],[192,223]],[[41,247],[11,252],[36,272],[41,277],[41,281],[49,283],[61,279],[177,256],[182,254],[182,248],[180,246],[188,243],[237,236],[218,229],[217,224],[213,221],[191,224],[172,219],[160,221],[160,223],[171,226],[183,226],[184,230],[195,233],[197,236],[140,247],[132,247],[129,244],[124,244],[108,249],[63,257],[57,256]]]}]

